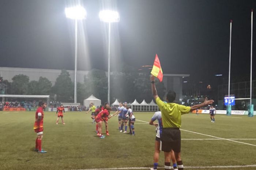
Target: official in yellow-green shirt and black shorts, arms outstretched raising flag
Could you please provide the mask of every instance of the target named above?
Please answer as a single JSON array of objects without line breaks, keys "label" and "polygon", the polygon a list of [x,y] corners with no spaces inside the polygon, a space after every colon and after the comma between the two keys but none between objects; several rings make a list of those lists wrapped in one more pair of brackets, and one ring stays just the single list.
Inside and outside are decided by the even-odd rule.
[{"label": "official in yellow-green shirt and black shorts, arms outstretched raising flag", "polygon": [[165,103],[157,95],[157,89],[155,88],[155,77],[153,75],[151,75],[150,80],[153,97],[162,112],[163,131],[160,136],[160,149],[165,153],[165,170],[171,169],[170,159],[172,150],[174,151],[178,170],[183,170],[183,163],[181,160],[180,134],[181,115],[189,113],[192,110],[196,110],[200,107],[210,105],[214,101],[205,100],[203,103],[191,107],[178,105],[176,103],[173,103],[176,98],[176,93],[170,90],[166,95],[167,103]]}]

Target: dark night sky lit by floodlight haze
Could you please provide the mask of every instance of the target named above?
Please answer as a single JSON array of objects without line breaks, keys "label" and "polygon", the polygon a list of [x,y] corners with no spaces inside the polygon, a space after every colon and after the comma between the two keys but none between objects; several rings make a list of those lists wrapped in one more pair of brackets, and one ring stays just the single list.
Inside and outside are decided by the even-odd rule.
[{"label": "dark night sky lit by floodlight haze", "polygon": [[[112,70],[152,65],[157,53],[163,73],[227,78],[232,19],[231,81],[249,80],[255,0],[1,0],[0,67],[74,69],[74,21],[64,9],[79,3],[87,11],[78,29],[79,70],[107,70],[108,27],[98,12],[111,8],[120,13],[112,24]],[[253,21],[256,78],[255,13]]]}]

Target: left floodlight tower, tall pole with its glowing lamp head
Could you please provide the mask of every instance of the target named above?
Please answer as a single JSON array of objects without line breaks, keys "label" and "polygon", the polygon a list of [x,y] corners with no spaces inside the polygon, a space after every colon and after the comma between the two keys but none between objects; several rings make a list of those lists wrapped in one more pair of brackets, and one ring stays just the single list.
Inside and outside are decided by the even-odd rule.
[{"label": "left floodlight tower, tall pole with its glowing lamp head", "polygon": [[78,5],[75,7],[65,8],[66,17],[75,20],[75,90],[74,103],[77,103],[77,23],[78,20],[86,19],[86,10],[84,7]]}]

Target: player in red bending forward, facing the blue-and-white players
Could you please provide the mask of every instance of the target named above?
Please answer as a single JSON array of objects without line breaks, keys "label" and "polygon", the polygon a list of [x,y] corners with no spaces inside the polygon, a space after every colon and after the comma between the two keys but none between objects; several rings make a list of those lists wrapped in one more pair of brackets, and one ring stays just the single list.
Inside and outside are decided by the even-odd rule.
[{"label": "player in red bending forward, facing the blue-and-white players", "polygon": [[104,118],[111,118],[113,116],[113,114],[109,114],[110,113],[110,110],[111,110],[111,107],[110,106],[106,106],[106,108],[104,110],[102,110],[101,112],[99,112],[99,114],[97,114],[97,116],[95,117],[95,121],[96,123],[98,124],[99,126],[99,132],[98,132],[98,136],[99,138],[105,138],[105,136],[103,136],[101,134],[102,132],[102,122],[103,122],[103,119]]}]

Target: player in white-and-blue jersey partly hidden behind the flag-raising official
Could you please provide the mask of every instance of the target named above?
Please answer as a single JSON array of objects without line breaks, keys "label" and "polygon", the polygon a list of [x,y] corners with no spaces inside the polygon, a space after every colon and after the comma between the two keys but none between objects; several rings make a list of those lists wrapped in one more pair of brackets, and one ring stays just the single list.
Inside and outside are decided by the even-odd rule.
[{"label": "player in white-and-blue jersey partly hidden behind the flag-raising official", "polygon": [[[155,120],[158,120],[158,124],[154,123]],[[163,129],[163,124],[162,124],[162,114],[161,112],[155,112],[155,114],[153,115],[153,117],[151,118],[150,125],[154,125],[156,126],[156,131],[157,131],[157,135],[155,136],[155,152],[154,152],[154,167],[151,168],[150,170],[157,170],[158,167],[158,160],[159,160],[159,153],[161,151],[161,140],[160,140],[160,136],[162,134],[162,129]],[[177,163],[176,163],[176,159],[175,159],[175,155],[173,150],[171,151],[171,159],[172,159],[172,163],[173,163],[173,169],[174,170],[178,170],[177,168]]]}]

